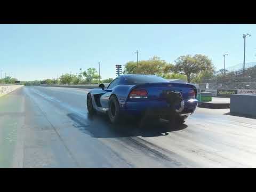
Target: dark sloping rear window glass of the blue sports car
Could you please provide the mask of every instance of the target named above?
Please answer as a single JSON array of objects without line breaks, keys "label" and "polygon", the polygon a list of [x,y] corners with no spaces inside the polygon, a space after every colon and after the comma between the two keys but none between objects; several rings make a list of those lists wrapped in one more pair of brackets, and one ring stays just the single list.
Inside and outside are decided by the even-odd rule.
[{"label": "dark sloping rear window glass of the blue sports car", "polygon": [[126,85],[138,85],[143,83],[166,83],[169,82],[166,79],[158,76],[128,76],[123,79]]}]

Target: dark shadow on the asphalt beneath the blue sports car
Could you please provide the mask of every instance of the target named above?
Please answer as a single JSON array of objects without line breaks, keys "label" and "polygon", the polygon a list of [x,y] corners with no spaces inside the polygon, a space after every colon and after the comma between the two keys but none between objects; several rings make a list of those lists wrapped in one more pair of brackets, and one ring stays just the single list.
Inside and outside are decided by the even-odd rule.
[{"label": "dark shadow on the asphalt beneath the blue sports car", "polygon": [[67,116],[73,120],[73,127],[85,134],[90,134],[94,138],[159,137],[187,127],[186,124],[176,125],[167,121],[150,121],[150,119],[146,119],[145,122],[126,119],[117,125],[113,125],[105,115],[81,117],[70,113]]}]

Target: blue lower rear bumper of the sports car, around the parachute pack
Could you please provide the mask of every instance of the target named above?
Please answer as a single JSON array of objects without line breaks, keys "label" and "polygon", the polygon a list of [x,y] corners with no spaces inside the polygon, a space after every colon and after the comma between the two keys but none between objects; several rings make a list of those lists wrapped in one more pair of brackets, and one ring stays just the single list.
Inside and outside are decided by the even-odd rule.
[{"label": "blue lower rear bumper of the sports car, around the parachute pack", "polygon": [[[196,99],[190,99],[184,101],[184,109],[181,113],[175,113],[180,116],[191,115],[194,113],[198,101]],[[126,102],[125,107],[120,109],[121,113],[127,115],[171,115],[173,110],[166,101],[139,101],[139,102]]]}]

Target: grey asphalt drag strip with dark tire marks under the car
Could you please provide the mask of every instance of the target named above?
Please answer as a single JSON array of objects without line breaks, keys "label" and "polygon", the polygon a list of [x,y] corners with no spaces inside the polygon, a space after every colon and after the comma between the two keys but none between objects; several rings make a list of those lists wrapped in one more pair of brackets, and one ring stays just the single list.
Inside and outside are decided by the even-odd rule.
[{"label": "grey asphalt drag strip with dark tire marks under the car", "polygon": [[0,167],[256,167],[256,119],[197,108],[183,125],[113,126],[89,90],[22,87],[0,98]]}]

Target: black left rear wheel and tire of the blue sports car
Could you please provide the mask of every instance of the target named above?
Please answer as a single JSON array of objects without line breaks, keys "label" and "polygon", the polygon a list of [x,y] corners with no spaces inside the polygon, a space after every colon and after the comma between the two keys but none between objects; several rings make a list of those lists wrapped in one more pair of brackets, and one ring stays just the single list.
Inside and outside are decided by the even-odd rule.
[{"label": "black left rear wheel and tire of the blue sports car", "polygon": [[111,123],[120,122],[119,102],[115,95],[112,95],[108,101],[108,117]]}]

